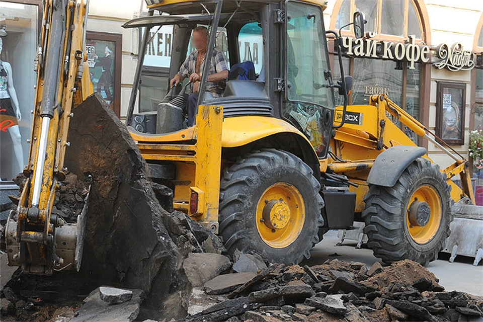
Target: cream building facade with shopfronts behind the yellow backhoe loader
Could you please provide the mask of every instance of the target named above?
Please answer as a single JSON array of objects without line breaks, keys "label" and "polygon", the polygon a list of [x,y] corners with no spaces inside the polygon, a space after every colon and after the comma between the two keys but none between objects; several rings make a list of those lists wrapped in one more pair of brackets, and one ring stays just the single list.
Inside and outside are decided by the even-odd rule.
[{"label": "cream building facade with shopfronts behind the yellow backhoe loader", "polygon": [[[41,24],[40,3],[0,1],[0,59],[12,65],[21,114],[17,136],[12,126],[1,125],[3,184],[22,170],[28,157],[26,140],[30,136],[30,111],[35,96],[33,57]],[[364,40],[355,39],[352,27],[345,27],[355,11],[363,12],[367,20]],[[143,0],[91,1],[87,35],[91,79],[94,90],[102,94],[121,119],[127,113],[142,32],[121,26],[146,13]],[[482,1],[330,0],[325,25],[327,29],[341,29],[344,36],[344,68],[346,74],[354,77],[351,104],[367,104],[370,95],[386,94],[468,157],[469,132],[483,127]],[[240,42],[240,54],[256,62],[259,70],[263,42],[258,27],[249,27],[243,43]],[[147,112],[149,108],[145,107],[159,102],[168,87],[172,28],[156,28],[151,35],[141,74],[139,106],[143,108],[137,112]],[[330,45],[333,50],[333,42]],[[222,37],[218,46],[224,46]],[[334,62],[334,52],[332,56]],[[339,77],[338,64],[333,64],[333,74]],[[402,125],[401,128],[426,147],[442,167],[451,163],[431,143]]]}]

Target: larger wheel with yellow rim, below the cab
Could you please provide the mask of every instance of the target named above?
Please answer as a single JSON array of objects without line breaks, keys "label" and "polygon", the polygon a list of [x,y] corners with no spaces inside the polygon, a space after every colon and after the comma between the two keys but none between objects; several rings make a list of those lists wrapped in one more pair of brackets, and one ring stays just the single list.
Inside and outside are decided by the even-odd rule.
[{"label": "larger wheel with yellow rim, below the cab", "polygon": [[310,167],[289,152],[245,155],[221,179],[219,235],[225,248],[276,263],[308,259],[324,225],[319,190]]}]

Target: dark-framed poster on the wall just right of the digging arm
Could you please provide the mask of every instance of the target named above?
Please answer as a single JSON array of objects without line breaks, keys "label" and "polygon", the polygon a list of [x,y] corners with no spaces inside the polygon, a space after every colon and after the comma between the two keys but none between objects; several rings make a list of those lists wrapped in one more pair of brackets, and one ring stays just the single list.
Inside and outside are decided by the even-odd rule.
[{"label": "dark-framed poster on the wall just right of the digging arm", "polygon": [[86,52],[94,92],[120,116],[122,35],[88,32]]}]

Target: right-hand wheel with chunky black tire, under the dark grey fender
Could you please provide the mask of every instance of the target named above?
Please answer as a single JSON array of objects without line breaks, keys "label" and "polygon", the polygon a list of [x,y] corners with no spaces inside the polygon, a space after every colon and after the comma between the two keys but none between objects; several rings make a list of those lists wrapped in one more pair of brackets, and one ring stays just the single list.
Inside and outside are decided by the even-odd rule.
[{"label": "right-hand wheel with chunky black tire, under the dark grey fender", "polygon": [[371,185],[362,218],[374,256],[386,264],[410,259],[426,266],[434,261],[450,233],[450,192],[439,166],[422,157],[393,187]]}]

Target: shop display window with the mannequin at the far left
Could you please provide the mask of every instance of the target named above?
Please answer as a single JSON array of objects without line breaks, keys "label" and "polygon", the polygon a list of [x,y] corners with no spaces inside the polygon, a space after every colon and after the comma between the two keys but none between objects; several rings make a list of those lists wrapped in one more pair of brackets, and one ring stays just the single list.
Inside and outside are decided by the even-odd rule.
[{"label": "shop display window with the mannequin at the far left", "polygon": [[36,73],[39,7],[0,1],[0,179],[10,181],[28,158]]}]

